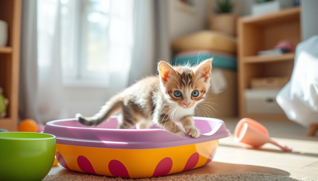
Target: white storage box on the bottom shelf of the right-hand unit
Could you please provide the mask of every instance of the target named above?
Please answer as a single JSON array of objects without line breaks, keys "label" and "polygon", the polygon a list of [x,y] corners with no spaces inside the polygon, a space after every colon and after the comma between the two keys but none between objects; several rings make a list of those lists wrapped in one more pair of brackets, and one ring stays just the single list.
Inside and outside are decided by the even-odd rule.
[{"label": "white storage box on the bottom shelf of the right-hand unit", "polygon": [[276,102],[280,89],[245,89],[245,110],[247,113],[284,114]]}]

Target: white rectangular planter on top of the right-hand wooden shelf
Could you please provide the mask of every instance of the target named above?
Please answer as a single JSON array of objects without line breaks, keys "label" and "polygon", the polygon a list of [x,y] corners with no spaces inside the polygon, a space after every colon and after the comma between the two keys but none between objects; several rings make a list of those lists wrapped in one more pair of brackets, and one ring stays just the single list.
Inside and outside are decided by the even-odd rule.
[{"label": "white rectangular planter on top of the right-hand wooden shelf", "polygon": [[273,13],[280,10],[280,3],[277,0],[255,0],[257,4],[252,6],[252,15]]}]

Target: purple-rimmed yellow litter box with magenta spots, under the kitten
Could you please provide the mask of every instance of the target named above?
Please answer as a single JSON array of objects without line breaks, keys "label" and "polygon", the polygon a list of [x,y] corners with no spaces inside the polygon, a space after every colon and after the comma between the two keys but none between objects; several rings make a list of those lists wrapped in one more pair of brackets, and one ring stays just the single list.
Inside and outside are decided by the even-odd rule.
[{"label": "purple-rimmed yellow litter box with magenta spots, under the kitten", "polygon": [[199,138],[156,126],[116,129],[117,116],[98,126],[55,120],[44,133],[56,136],[59,164],[73,171],[123,178],[148,178],[194,169],[212,161],[218,139],[230,136],[222,120],[194,117]]}]

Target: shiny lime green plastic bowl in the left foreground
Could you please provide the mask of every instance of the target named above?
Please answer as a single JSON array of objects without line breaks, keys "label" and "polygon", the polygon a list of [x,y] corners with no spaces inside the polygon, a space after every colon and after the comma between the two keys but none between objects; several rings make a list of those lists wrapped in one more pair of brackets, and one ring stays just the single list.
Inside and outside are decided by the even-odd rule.
[{"label": "shiny lime green plastic bowl in the left foreground", "polygon": [[51,170],[54,156],[54,135],[0,133],[0,180],[42,180]]}]

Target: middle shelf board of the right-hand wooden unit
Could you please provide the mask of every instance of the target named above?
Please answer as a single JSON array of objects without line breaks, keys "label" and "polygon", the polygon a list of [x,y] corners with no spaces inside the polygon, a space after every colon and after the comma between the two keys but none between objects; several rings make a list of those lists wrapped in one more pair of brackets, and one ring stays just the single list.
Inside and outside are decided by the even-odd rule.
[{"label": "middle shelf board of the right-hand wooden unit", "polygon": [[290,61],[294,60],[295,53],[286,53],[283,55],[264,55],[264,56],[246,56],[243,57],[244,63],[261,63],[261,62],[272,62],[272,61]]}]

